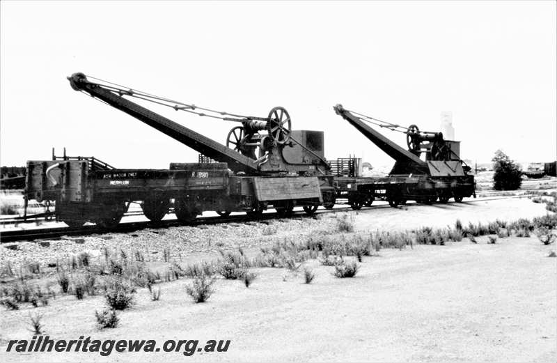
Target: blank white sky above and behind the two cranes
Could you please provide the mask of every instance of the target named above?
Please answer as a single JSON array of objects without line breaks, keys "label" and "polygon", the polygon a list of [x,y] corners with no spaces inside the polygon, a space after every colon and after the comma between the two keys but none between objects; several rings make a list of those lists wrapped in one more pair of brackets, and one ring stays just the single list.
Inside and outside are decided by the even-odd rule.
[{"label": "blank white sky above and behind the two cranes", "polygon": [[[222,111],[323,130],[327,158],[389,156],[332,107],[439,130],[453,112],[463,158],[497,148],[556,159],[555,1],[2,1],[0,163],[49,160],[55,146],[123,168],[167,168],[197,153],[77,93],[84,72]],[[151,107],[225,142],[235,126]],[[384,134],[405,145],[404,135]]]}]

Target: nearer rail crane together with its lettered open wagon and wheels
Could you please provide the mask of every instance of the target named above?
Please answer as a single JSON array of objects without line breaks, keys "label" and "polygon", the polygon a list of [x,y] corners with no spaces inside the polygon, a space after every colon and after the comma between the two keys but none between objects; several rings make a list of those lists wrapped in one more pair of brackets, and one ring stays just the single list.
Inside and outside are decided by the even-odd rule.
[{"label": "nearer rail crane together with its lettered open wagon and wheels", "polygon": [[[204,211],[245,212],[257,217],[267,208],[287,214],[295,206],[314,213],[334,199],[334,182],[324,160],[323,132],[291,130],[290,115],[275,107],[267,117],[232,115],[113,84],[90,82],[81,73],[68,77],[83,91],[119,109],[216,162],[172,163],[169,169],[117,169],[94,157],[56,157],[29,161],[26,200],[54,201],[56,217],[70,226],[95,222],[116,226],[130,203],[141,203],[152,221],[175,213],[191,222]],[[240,123],[226,146],[128,100],[139,98]]]}]

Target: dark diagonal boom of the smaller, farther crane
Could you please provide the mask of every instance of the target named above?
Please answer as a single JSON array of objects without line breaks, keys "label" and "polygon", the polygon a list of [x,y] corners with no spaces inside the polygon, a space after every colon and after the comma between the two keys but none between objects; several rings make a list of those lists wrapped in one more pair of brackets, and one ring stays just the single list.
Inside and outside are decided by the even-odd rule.
[{"label": "dark diagonal boom of the smaller, farther crane", "polygon": [[408,150],[401,148],[393,141],[387,139],[379,132],[370,128],[366,123],[361,120],[361,117],[355,116],[350,111],[344,109],[343,105],[336,105],[334,107],[336,114],[342,116],[346,121],[348,121],[356,130],[361,132],[366,136],[373,144],[377,145],[381,150],[387,155],[392,157],[398,162],[411,162],[416,164],[418,167],[427,167],[427,163],[421,160],[419,157],[410,153]]}]

